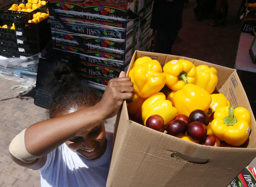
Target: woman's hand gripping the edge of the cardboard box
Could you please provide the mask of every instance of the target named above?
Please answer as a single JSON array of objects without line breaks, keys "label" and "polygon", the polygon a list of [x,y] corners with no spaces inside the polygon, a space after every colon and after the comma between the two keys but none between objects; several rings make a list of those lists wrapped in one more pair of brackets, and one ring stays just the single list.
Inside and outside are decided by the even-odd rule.
[{"label": "woman's hand gripping the edge of the cardboard box", "polygon": [[[124,101],[133,101],[133,82],[121,72],[118,78],[110,79],[101,101],[97,104],[102,109],[105,119],[117,114]],[[105,116],[104,116],[105,115]]]}]

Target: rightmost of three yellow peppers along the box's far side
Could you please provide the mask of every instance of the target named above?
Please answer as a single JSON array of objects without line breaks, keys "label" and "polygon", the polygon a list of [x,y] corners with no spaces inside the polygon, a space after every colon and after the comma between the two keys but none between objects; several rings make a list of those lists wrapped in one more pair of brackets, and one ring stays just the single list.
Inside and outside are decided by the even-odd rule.
[{"label": "rightmost of three yellow peppers along the box's far side", "polygon": [[212,93],[218,83],[217,70],[207,65],[196,67],[196,76],[194,84],[204,88],[208,93]]}]

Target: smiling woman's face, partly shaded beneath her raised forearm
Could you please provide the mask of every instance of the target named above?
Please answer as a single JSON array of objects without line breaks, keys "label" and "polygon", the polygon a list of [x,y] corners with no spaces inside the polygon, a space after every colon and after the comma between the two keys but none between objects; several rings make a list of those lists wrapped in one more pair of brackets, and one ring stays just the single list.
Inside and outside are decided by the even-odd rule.
[{"label": "smiling woman's face, partly shaded beneath her raised forearm", "polygon": [[[80,108],[82,109],[82,108]],[[73,111],[68,111],[69,114]],[[64,114],[64,115],[65,115]],[[65,142],[68,148],[87,159],[100,158],[106,151],[107,140],[104,121]]]}]

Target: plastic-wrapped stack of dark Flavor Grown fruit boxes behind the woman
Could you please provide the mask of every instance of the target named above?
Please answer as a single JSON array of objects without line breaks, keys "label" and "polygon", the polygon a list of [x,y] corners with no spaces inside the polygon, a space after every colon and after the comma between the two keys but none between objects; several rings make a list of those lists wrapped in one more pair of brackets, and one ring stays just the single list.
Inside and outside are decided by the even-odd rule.
[{"label": "plastic-wrapped stack of dark Flavor Grown fruit boxes behind the woman", "polygon": [[78,54],[77,71],[94,87],[105,89],[125,71],[134,50],[150,40],[152,1],[51,0],[49,5],[54,48]]}]

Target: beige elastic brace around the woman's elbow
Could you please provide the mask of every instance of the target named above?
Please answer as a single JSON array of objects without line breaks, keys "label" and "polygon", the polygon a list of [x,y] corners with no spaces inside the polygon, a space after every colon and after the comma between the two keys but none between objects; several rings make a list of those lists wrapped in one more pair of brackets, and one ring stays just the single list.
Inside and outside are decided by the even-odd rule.
[{"label": "beige elastic brace around the woman's elbow", "polygon": [[31,155],[25,147],[25,130],[21,131],[17,136],[14,137],[12,142],[9,145],[10,153],[25,163],[31,163],[35,159],[40,158],[34,155]]}]

